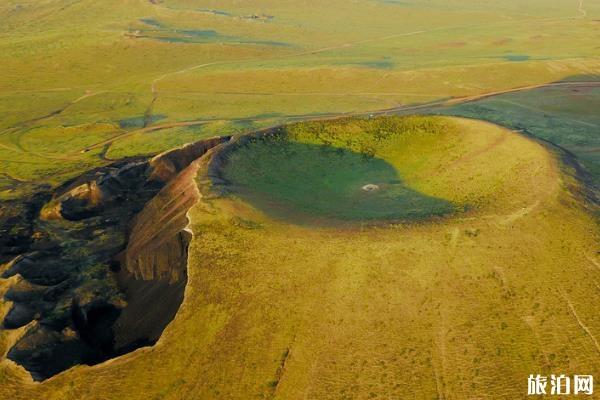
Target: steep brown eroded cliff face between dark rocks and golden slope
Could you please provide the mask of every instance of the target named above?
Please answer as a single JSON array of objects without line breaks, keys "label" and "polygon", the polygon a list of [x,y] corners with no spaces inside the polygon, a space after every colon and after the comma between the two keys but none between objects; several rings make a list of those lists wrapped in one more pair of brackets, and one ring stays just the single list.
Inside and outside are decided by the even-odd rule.
[{"label": "steep brown eroded cliff face between dark rocks and golden slope", "polygon": [[168,183],[136,215],[119,256],[118,279],[128,304],[113,327],[116,347],[156,342],[175,317],[187,284],[187,212],[200,199],[194,178],[201,157],[224,140],[194,143],[150,161],[151,176]]}]

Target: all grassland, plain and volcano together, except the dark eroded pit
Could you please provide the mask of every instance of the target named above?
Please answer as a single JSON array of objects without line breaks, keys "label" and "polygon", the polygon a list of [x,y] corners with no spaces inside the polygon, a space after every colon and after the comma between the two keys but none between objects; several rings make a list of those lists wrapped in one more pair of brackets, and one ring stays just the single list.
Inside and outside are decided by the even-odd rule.
[{"label": "all grassland, plain and volcano together, except the dark eroded pit", "polygon": [[[235,190],[190,214],[186,299],[159,343],[43,384],[2,358],[0,398],[515,399],[530,373],[598,376],[597,219],[548,148],[597,187],[600,96],[533,86],[597,81],[599,20],[570,0],[0,2],[0,201],[298,120],[390,109],[520,131],[425,119],[444,132],[372,143],[374,120],[342,122],[373,145],[364,162],[339,124],[300,124],[304,168],[241,149]],[[399,190],[357,205],[375,180]],[[411,199],[444,218],[384,212]],[[18,334],[0,330],[0,355]]]}]

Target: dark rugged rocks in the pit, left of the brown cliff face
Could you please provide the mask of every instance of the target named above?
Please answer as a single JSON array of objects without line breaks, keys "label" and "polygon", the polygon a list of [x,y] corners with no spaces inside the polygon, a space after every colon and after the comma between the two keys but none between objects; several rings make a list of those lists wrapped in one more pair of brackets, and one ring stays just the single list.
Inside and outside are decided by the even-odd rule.
[{"label": "dark rugged rocks in the pit, left of the brown cliff face", "polygon": [[2,327],[23,330],[7,357],[34,379],[113,354],[111,327],[126,302],[110,268],[128,221],[164,186],[148,170],[138,159],[83,174],[12,229],[28,237],[0,269],[16,282],[4,295],[11,308]]}]

